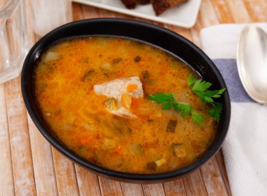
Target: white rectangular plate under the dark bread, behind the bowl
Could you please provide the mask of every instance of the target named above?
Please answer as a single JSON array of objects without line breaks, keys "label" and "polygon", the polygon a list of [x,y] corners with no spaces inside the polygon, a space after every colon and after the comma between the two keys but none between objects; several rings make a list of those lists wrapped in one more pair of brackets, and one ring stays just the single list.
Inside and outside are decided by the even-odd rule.
[{"label": "white rectangular plate under the dark bread, behind the bowl", "polygon": [[122,4],[122,1],[120,0],[72,0],[72,1],[186,28],[190,28],[193,27],[193,25],[195,25],[195,21],[197,20],[197,13],[200,10],[200,4],[201,4],[201,0],[189,0],[184,4],[181,4],[179,6],[174,6],[173,8],[169,9],[168,11],[165,11],[161,15],[156,16],[152,9],[151,4],[138,5],[136,6],[135,9],[129,10],[125,8],[124,4]]}]

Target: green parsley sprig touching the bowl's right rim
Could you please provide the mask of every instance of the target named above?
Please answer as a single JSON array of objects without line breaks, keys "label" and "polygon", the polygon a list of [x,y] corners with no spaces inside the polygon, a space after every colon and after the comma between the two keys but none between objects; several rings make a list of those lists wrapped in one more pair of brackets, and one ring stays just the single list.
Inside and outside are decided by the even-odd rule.
[{"label": "green parsley sprig touching the bowl's right rim", "polygon": [[196,79],[191,75],[188,77],[188,86],[191,87],[191,91],[195,93],[204,103],[209,103],[212,105],[207,111],[211,117],[214,117],[216,122],[219,122],[221,118],[221,112],[223,110],[223,105],[214,101],[214,98],[221,97],[221,94],[226,91],[226,89],[221,90],[208,90],[212,84],[208,81],[203,81],[202,79]]}]

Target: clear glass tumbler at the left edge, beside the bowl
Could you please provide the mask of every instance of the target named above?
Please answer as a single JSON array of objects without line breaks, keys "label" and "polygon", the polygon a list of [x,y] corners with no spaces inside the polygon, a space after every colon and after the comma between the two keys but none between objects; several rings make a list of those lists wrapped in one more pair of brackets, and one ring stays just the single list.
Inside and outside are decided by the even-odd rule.
[{"label": "clear glass tumbler at the left edge, beside the bowl", "polygon": [[28,51],[24,0],[0,0],[0,84],[20,75]]}]

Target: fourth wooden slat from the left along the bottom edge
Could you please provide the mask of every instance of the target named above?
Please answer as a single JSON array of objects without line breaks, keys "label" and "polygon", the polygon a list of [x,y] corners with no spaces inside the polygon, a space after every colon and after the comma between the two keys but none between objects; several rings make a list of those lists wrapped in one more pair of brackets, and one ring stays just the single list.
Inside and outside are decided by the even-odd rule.
[{"label": "fourth wooden slat from the left along the bottom edge", "polygon": [[79,195],[74,163],[52,147],[58,195]]}]

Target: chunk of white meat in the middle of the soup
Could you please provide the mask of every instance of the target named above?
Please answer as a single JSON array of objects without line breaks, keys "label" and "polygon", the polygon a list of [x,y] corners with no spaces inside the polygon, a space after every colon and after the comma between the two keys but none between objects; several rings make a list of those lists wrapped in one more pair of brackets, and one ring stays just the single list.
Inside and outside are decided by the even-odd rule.
[{"label": "chunk of white meat in the middle of the soup", "polygon": [[[130,88],[129,86],[134,86]],[[98,95],[104,95],[108,98],[114,98],[116,107],[107,107],[108,111],[120,117],[136,117],[129,108],[124,107],[122,96],[129,95],[133,98],[143,98],[143,87],[139,77],[126,77],[122,79],[114,79],[103,84],[96,84],[93,90]]]}]

